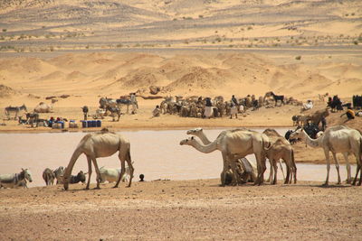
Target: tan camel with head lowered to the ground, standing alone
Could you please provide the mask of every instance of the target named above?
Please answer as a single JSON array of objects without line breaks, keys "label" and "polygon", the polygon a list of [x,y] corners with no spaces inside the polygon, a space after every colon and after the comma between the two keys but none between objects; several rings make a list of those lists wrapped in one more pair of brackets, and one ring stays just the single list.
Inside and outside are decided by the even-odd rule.
[{"label": "tan camel with head lowered to the ground, standing alone", "polygon": [[[116,134],[110,132],[108,129],[103,128],[100,132],[97,133],[90,133],[86,134],[82,139],[80,144],[78,144],[77,148],[75,149],[74,153],[71,155],[71,161],[69,162],[67,168],[65,169],[63,175],[63,185],[64,190],[68,190],[69,178],[71,176],[71,170],[74,166],[74,163],[77,161],[81,153],[84,153],[87,156],[88,160],[88,182],[86,186],[86,190],[90,189],[90,176],[91,176],[91,162],[93,162],[94,169],[97,173],[97,188],[100,189],[100,169],[98,168],[97,164],[97,157],[107,157],[114,153],[119,152],[119,161],[121,164],[121,171],[119,177],[122,177],[126,168],[125,168],[125,161],[129,164],[130,169],[130,179],[129,179],[129,186],[131,185],[132,178],[133,178],[133,165],[130,159],[130,144],[129,140],[124,138],[120,134]],[[119,186],[119,180],[117,181],[114,188]]]}]

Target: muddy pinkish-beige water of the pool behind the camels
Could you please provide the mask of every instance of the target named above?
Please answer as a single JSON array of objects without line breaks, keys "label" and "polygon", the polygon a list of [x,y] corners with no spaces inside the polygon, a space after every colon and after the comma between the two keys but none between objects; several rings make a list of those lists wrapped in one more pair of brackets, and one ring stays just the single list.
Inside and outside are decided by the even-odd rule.
[{"label": "muddy pinkish-beige water of the pool behind the camels", "polygon": [[[264,129],[254,128],[262,132]],[[276,128],[281,134],[287,129]],[[210,140],[214,140],[222,129],[205,130]],[[124,131],[131,144],[131,158],[135,166],[135,179],[143,173],[146,181],[156,179],[195,180],[219,178],[223,169],[221,153],[200,153],[188,145],[179,145],[187,138],[186,130],[167,131]],[[0,134],[0,173],[15,173],[21,168],[29,168],[33,182],[29,187],[43,186],[43,170],[67,166],[75,147],[84,133],[47,133],[47,134]],[[317,151],[317,150],[316,150]],[[322,150],[320,150],[322,152]],[[254,156],[247,156],[255,162]],[[298,158],[298,157],[297,157]],[[99,166],[119,168],[118,155],[98,159]],[[269,168],[269,163],[267,164]],[[300,181],[324,181],[326,165],[297,164],[297,177]],[[352,168],[352,174],[355,171]],[[74,165],[72,173],[88,171],[85,155],[81,155]],[[285,168],[284,168],[285,170]],[[342,180],[347,173],[344,165],[340,167]],[[337,171],[331,166],[329,181],[337,181]],[[267,177],[268,171],[265,177]],[[279,179],[282,179],[279,171]],[[95,171],[91,182],[95,182]]]}]

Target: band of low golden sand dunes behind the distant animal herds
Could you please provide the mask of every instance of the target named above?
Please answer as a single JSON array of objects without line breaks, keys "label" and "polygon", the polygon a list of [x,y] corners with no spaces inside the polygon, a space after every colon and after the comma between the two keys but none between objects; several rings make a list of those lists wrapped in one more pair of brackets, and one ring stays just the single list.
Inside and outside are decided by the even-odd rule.
[{"label": "band of low golden sand dunes behind the distant animal herds", "polygon": [[[9,66],[10,68],[6,68]],[[24,94],[46,97],[57,93],[81,94],[81,86],[97,93],[123,94],[156,85],[168,94],[263,95],[268,89],[297,98],[319,93],[359,94],[362,73],[357,64],[329,63],[315,68],[304,64],[278,65],[252,53],[174,55],[65,54],[50,60],[1,59],[2,83]],[[42,83],[42,87],[34,83]],[[343,86],[343,90],[339,89]]]}]

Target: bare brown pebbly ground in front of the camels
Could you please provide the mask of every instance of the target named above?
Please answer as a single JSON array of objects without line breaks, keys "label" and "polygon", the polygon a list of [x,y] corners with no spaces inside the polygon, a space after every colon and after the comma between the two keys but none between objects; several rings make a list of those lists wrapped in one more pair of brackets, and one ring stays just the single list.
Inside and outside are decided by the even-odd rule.
[{"label": "bare brown pebbly ground in front of the camels", "polygon": [[362,238],[361,188],[219,187],[219,180],[1,190],[2,240],[347,240]]}]

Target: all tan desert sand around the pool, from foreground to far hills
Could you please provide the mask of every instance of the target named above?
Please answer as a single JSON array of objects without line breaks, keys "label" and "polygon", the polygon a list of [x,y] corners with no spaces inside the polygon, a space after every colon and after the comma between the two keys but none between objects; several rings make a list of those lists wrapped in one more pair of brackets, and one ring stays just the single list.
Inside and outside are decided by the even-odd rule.
[{"label": "all tan desert sand around the pool, from foreground to far hills", "polygon": [[[110,116],[113,131],[187,127],[288,127],[300,106],[247,110],[198,119],[152,118],[167,96],[264,96],[267,91],[314,101],[304,114],[325,109],[319,95],[344,103],[362,95],[362,5],[349,1],[0,1],[0,108],[40,102],[41,118],[82,119],[100,97],[138,93],[135,115]],[[148,99],[150,86],[162,90]],[[146,97],[146,98],[144,98]],[[125,109],[122,109],[125,112]],[[361,129],[330,113],[329,126]],[[24,113],[22,113],[24,115]],[[1,133],[89,132],[30,127],[0,112]],[[91,119],[91,116],[90,116]],[[66,126],[67,127],[67,126]],[[34,144],[34,148],[39,148]],[[0,146],[1,149],[1,146]],[[297,162],[325,163],[321,150],[294,145]],[[6,152],[6,150],[1,150]],[[6,162],[1,160],[0,162]],[[71,153],[69,153],[71,155]],[[36,156],[32,157],[36,158]],[[352,163],[355,160],[350,158]],[[344,162],[338,155],[339,162]],[[220,161],[221,162],[221,161]],[[65,163],[64,163],[65,165]],[[298,163],[297,163],[298,166]],[[335,171],[331,168],[331,171]],[[344,170],[343,170],[344,171]],[[1,172],[1,170],[0,170]],[[34,177],[41,178],[41,177]],[[219,187],[219,179],[136,182],[111,189],[83,185],[0,190],[4,240],[346,240],[361,239],[361,188],[291,185]],[[280,181],[281,183],[281,181]]]}]

